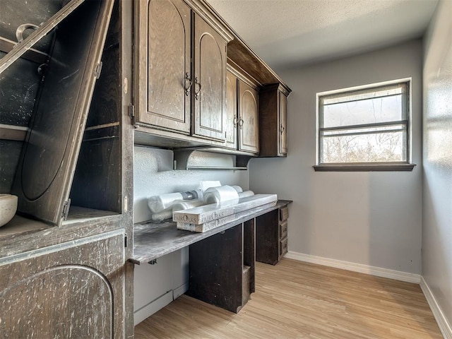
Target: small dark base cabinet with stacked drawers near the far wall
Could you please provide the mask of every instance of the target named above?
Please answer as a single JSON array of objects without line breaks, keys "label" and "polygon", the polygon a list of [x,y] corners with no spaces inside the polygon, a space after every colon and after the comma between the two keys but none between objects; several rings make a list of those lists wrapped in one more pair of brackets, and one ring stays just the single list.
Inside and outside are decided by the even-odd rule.
[{"label": "small dark base cabinet with stacked drawers near the far wall", "polygon": [[256,261],[275,265],[287,253],[287,219],[290,201],[256,218]]}]

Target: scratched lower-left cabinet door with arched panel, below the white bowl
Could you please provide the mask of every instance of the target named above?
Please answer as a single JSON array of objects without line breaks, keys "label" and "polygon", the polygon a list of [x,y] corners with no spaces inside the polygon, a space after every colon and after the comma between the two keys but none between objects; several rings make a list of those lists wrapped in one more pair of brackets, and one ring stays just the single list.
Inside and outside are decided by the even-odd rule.
[{"label": "scratched lower-left cabinet door with arched panel, below the white bowl", "polygon": [[2,338],[124,338],[124,258],[124,230],[2,258]]}]

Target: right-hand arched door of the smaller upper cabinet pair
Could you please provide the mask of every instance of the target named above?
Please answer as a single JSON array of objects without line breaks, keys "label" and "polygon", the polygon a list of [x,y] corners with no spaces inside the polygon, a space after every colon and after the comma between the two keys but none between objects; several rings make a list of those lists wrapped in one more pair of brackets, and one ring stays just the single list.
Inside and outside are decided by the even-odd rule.
[{"label": "right-hand arched door of the smaller upper cabinet pair", "polygon": [[258,92],[239,80],[239,150],[258,153]]}]

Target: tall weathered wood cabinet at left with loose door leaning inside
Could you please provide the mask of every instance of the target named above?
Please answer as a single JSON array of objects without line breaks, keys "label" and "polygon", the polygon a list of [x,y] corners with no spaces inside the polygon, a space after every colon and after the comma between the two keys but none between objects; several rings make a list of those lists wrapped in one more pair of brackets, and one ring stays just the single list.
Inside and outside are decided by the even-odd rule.
[{"label": "tall weathered wood cabinet at left with loose door leaning inside", "polygon": [[1,7],[0,333],[130,337],[131,3]]}]

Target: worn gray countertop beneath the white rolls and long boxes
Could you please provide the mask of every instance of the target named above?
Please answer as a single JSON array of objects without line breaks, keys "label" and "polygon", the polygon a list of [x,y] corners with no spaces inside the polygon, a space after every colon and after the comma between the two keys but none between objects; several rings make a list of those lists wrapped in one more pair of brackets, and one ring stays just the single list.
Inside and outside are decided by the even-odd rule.
[{"label": "worn gray countertop beneath the white rolls and long boxes", "polygon": [[246,220],[256,218],[271,210],[286,206],[291,202],[292,201],[289,200],[278,200],[278,203],[270,208],[258,206],[245,210],[241,213],[237,213],[234,221],[202,233],[178,230],[176,222],[172,221],[160,223],[139,222],[133,225],[133,256],[129,260],[138,265],[148,263],[156,258],[160,258],[161,256],[165,256],[166,254],[182,249],[185,246],[189,246],[202,239],[206,239],[214,234],[239,225]]}]

